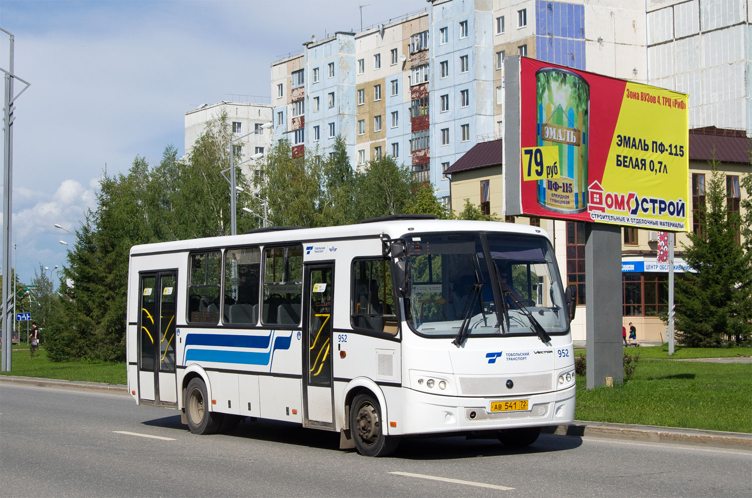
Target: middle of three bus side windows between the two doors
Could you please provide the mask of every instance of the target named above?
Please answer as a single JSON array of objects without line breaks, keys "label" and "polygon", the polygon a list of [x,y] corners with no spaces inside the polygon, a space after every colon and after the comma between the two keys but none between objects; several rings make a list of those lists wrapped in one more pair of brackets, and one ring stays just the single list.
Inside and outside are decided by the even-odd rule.
[{"label": "middle of three bus side windows between the two doors", "polygon": [[225,251],[225,323],[256,324],[259,321],[260,265],[258,247]]}]

